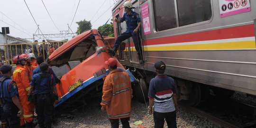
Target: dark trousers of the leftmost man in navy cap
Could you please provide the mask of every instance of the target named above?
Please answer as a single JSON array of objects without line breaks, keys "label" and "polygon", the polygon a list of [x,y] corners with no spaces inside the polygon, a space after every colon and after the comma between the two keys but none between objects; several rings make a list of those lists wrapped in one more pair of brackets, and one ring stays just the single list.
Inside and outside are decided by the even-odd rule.
[{"label": "dark trousers of the leftmost man in navy cap", "polygon": [[20,119],[17,117],[18,107],[13,102],[5,102],[3,105],[2,121],[7,121],[8,128],[19,128]]}]

